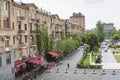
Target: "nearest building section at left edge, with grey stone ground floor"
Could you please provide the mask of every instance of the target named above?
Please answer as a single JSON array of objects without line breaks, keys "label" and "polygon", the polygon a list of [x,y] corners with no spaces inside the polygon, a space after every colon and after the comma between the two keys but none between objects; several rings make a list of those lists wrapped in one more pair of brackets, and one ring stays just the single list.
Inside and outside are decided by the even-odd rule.
[{"label": "nearest building section at left edge, with grey stone ground floor", "polygon": [[15,80],[12,0],[0,0],[0,80]]}]

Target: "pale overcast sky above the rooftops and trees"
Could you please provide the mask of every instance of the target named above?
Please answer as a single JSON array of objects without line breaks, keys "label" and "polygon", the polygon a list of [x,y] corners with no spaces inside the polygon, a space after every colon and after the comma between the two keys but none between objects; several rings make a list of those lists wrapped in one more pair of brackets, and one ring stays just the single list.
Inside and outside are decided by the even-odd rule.
[{"label": "pale overcast sky above the rooftops and trees", "polygon": [[[15,0],[20,1],[20,0]],[[85,15],[86,29],[96,27],[98,20],[114,23],[120,29],[120,0],[21,0],[35,3],[39,8],[51,14],[58,14],[61,19],[69,19],[73,12]]]}]

